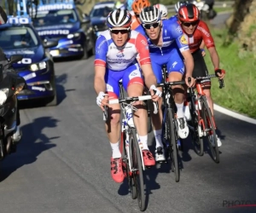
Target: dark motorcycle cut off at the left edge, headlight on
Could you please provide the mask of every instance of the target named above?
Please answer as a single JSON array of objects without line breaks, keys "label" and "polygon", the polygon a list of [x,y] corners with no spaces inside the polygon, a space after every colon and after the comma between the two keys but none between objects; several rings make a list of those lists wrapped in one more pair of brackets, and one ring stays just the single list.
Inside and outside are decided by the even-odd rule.
[{"label": "dark motorcycle cut off at the left edge, headlight on", "polygon": [[5,64],[0,64],[0,160],[15,153],[18,141],[14,138],[17,118],[16,95],[26,87],[11,65],[22,60],[22,55],[12,55]]}]

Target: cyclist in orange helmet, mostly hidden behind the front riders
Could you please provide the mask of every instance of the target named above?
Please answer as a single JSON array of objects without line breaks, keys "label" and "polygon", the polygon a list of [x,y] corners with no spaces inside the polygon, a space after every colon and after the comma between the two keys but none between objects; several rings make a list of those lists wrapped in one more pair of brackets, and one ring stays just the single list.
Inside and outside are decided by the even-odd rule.
[{"label": "cyclist in orange helmet, mostly hidden behind the front riders", "polygon": [[131,30],[135,30],[138,26],[140,26],[141,21],[139,19],[141,11],[150,6],[150,3],[148,0],[135,0],[131,4],[132,8],[132,23],[131,23]]}]

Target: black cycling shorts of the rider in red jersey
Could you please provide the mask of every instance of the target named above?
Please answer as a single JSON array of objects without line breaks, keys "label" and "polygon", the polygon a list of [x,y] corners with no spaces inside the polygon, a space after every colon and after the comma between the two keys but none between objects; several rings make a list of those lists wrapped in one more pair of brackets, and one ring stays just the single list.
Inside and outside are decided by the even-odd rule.
[{"label": "black cycling shorts of the rider in red jersey", "polygon": [[[192,54],[194,58],[194,71],[193,71],[193,78],[196,77],[205,77],[208,75],[207,65],[204,60],[204,57],[201,55],[201,49],[196,50]],[[202,88],[203,89],[211,89],[211,79],[204,79],[201,80]]]}]

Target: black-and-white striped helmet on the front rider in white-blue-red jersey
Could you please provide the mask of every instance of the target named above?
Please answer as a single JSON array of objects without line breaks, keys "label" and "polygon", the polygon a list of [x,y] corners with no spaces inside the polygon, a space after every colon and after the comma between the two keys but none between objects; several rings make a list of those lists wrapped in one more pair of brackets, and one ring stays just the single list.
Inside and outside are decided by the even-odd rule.
[{"label": "black-and-white striped helmet on the front rider in white-blue-red jersey", "polygon": [[108,14],[107,26],[128,28],[131,26],[131,14],[126,9],[115,9]]}]

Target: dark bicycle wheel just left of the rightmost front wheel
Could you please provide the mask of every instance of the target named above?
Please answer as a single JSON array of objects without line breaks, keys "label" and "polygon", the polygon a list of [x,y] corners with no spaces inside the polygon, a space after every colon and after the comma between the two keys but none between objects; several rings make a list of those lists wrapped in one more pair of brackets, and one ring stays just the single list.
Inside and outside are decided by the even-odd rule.
[{"label": "dark bicycle wheel just left of the rightmost front wheel", "polygon": [[191,97],[191,108],[189,109],[190,115],[191,115],[191,125],[193,127],[193,130],[190,131],[191,137],[192,137],[192,143],[194,145],[195,153],[197,153],[199,156],[204,155],[204,143],[203,138],[199,136],[198,129],[201,128],[201,125],[199,125],[198,120],[198,112],[195,109],[195,96]]}]

